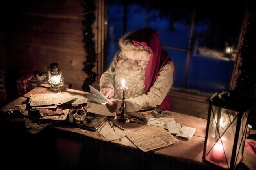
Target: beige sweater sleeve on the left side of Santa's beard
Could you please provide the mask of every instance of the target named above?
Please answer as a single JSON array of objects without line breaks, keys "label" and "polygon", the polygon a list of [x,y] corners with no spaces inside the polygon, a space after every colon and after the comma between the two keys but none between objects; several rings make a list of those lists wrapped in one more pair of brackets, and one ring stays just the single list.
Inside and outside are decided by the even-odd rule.
[{"label": "beige sweater sleeve on the left side of Santa's beard", "polygon": [[114,57],[112,63],[110,64],[109,69],[101,75],[101,77],[100,77],[100,89],[106,88],[106,87],[111,87],[113,90],[115,90],[114,89],[114,72],[115,72],[115,68],[116,68],[116,65],[117,65],[119,52],[120,51],[118,51],[115,54],[115,57]]}]

